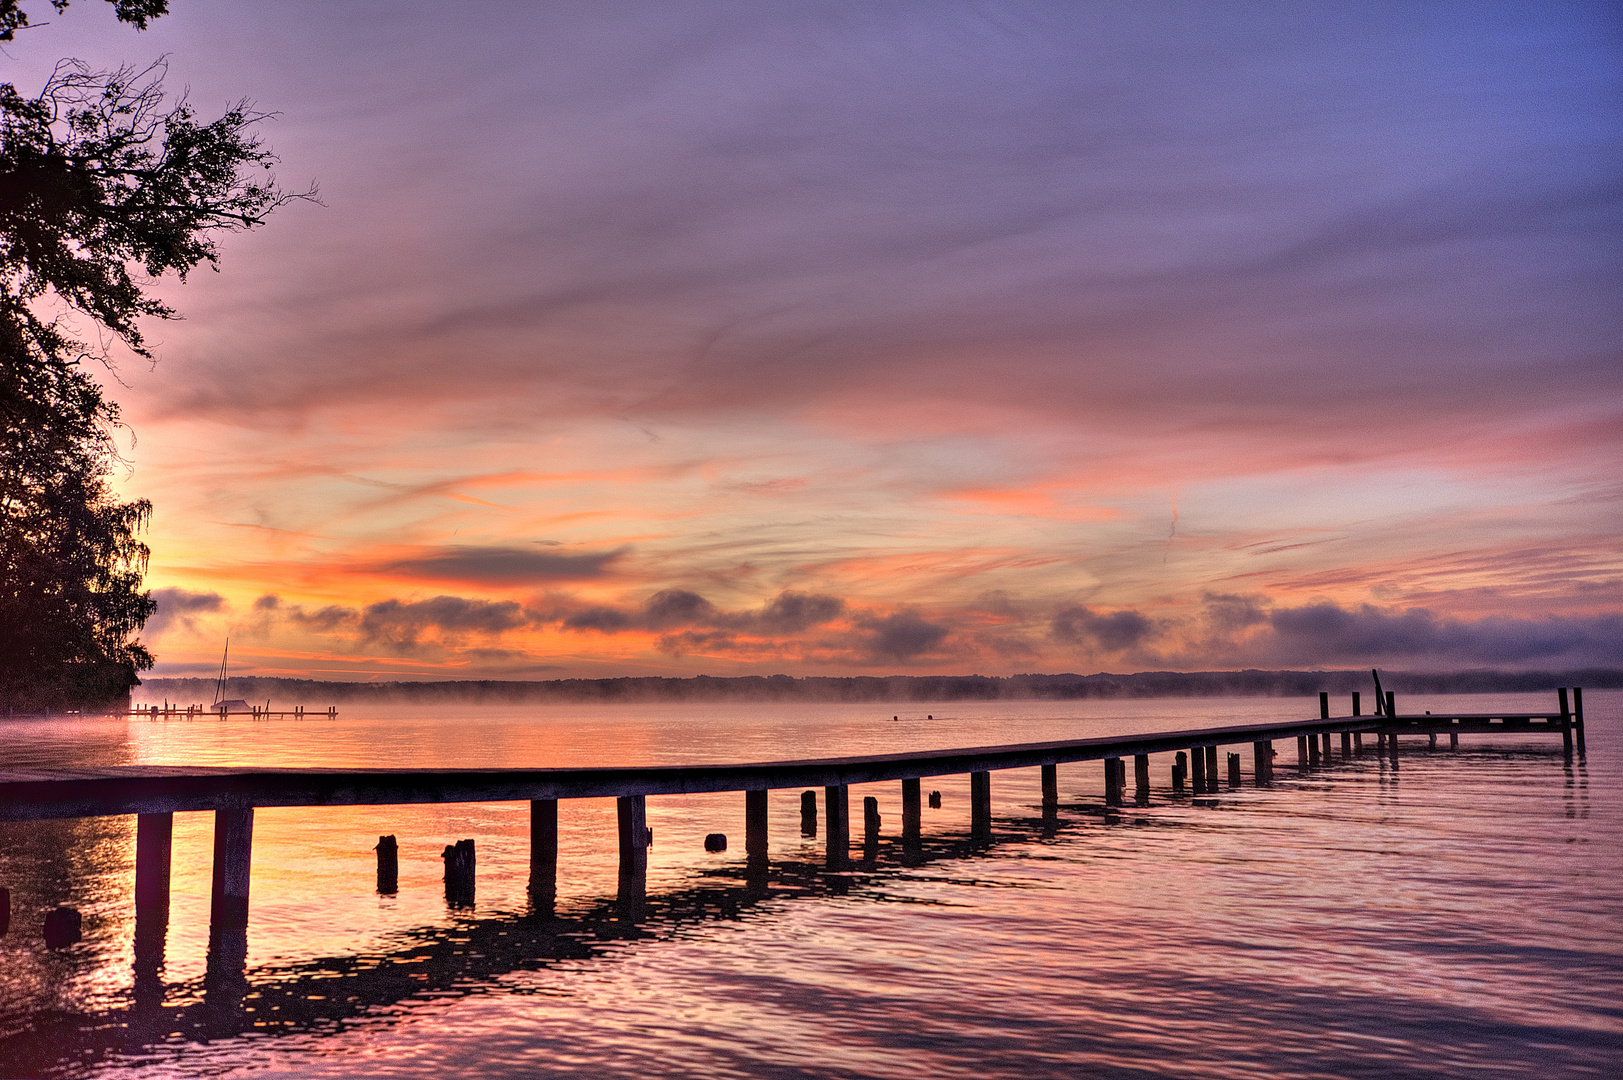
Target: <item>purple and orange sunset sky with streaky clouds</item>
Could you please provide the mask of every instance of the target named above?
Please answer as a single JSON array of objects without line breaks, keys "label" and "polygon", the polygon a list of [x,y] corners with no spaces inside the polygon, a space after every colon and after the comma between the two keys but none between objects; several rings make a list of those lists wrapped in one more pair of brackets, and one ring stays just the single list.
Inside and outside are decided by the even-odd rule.
[{"label": "purple and orange sunset sky with streaky clouds", "polygon": [[156,676],[1623,658],[1613,3],[32,6],[321,193],[107,375]]}]

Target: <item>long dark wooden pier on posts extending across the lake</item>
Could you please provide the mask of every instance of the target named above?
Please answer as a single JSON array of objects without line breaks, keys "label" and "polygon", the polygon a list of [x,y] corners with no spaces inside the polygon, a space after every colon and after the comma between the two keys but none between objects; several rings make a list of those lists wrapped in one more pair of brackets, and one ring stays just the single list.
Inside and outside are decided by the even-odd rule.
[{"label": "long dark wooden pier on posts extending across the lake", "polygon": [[[1376,750],[1397,760],[1402,739],[1448,732],[1449,745],[1461,736],[1550,734],[1563,750],[1584,752],[1582,690],[1571,698],[1563,689],[1558,708],[1550,713],[1425,713],[1397,715],[1393,695],[1383,703],[1389,711],[1363,716],[1331,716],[1328,695],[1319,695],[1319,716],[1307,721],[1242,724],[1130,736],[1105,736],[1061,742],[923,750],[747,765],[656,765],[639,768],[526,768],[526,770],[396,770],[396,768],[193,768],[130,765],[109,768],[0,770],[0,820],[24,822],[68,817],[138,815],[136,827],[136,961],[143,952],[162,950],[169,922],[170,836],[174,814],[214,812],[214,872],[211,942],[221,934],[219,948],[235,955],[245,948],[248,887],[252,879],[253,812],[256,807],[289,806],[383,806],[412,802],[521,802],[531,804],[531,900],[537,911],[550,913],[558,882],[558,801],[612,797],[618,802],[620,901],[635,918],[648,882],[646,799],[649,796],[743,793],[745,853],[751,870],[764,872],[768,862],[768,793],[805,789],[802,833],[815,835],[816,794],[823,789],[823,833],[829,870],[844,870],[850,859],[850,784],[901,781],[902,848],[920,841],[920,780],[969,773],[974,843],[993,840],[992,773],[1006,768],[1042,770],[1042,812],[1058,809],[1060,765],[1105,763],[1105,806],[1125,801],[1126,758],[1133,758],[1136,806],[1147,806],[1149,757],[1173,754],[1172,797],[1214,794],[1219,789],[1219,747],[1251,747],[1251,783],[1266,786],[1277,767],[1272,744],[1297,741],[1297,767],[1310,771],[1332,760],[1332,736],[1341,736],[1342,758],[1363,754],[1363,736],[1373,734]],[[1227,783],[1242,783],[1240,754],[1227,755]],[[1193,763],[1193,770],[1188,765]],[[1193,791],[1188,791],[1193,788]],[[932,806],[938,806],[932,793]],[[875,804],[863,807],[867,858],[878,843],[880,815]],[[466,848],[464,848],[466,845]],[[393,890],[398,846],[393,836],[378,840],[378,882]],[[446,848],[446,895],[451,896],[453,869],[458,893],[472,890],[474,841]],[[466,879],[466,880],[464,880]],[[3,882],[0,882],[3,885]],[[156,942],[156,945],[154,945]],[[216,947],[211,945],[211,955]]]}]

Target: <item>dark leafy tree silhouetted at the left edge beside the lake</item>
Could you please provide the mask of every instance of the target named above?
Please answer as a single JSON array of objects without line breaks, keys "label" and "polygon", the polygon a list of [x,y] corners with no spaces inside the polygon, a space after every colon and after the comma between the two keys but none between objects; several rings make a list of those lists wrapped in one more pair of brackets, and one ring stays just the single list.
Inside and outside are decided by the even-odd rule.
[{"label": "dark leafy tree silhouetted at the left edge beside the lake", "polygon": [[[161,0],[110,0],[144,24]],[[60,10],[63,0],[54,0]],[[26,26],[0,0],[0,39]],[[37,97],[0,84],[0,702],[112,698],[153,656],[133,635],[153,614],[136,539],[151,503],[118,502],[118,408],[86,370],[109,343],[151,357],[143,317],[175,313],[146,286],[214,265],[214,235],[252,229],[287,193],[247,102],[200,123],[166,107],[164,65],[91,71],[62,62]],[[73,315],[105,331],[81,341]]]}]

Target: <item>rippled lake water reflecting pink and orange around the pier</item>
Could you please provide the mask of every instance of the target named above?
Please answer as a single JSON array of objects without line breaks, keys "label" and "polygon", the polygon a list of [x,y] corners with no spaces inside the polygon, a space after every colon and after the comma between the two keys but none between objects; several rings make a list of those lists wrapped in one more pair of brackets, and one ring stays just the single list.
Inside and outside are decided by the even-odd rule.
[{"label": "rippled lake water reflecting pink and orange around the pier", "polygon": [[[1407,697],[1404,711],[1553,695]],[[310,702],[310,705],[323,705]],[[927,780],[925,859],[885,843],[824,874],[799,791],[773,870],[743,872],[743,796],[649,799],[649,914],[613,905],[613,802],[560,806],[555,919],[532,916],[527,806],[261,809],[245,979],[209,976],[211,814],[177,814],[164,966],[133,974],[135,820],[0,823],[0,1075],[255,1077],[1618,1077],[1623,693],[1552,737],[1414,739],[1269,789],[1107,814],[1099,763]],[[925,715],[933,715],[925,719]],[[378,710],[338,721],[0,723],[0,765],[547,767],[751,762],[1256,723],[1310,700]],[[891,716],[899,719],[893,721]],[[1444,739],[1446,745],[1446,739]],[[1238,747],[1233,747],[1238,749]],[[732,846],[703,851],[725,832]],[[399,893],[372,845],[401,843]],[[450,908],[440,849],[479,846]],[[860,856],[854,849],[854,858]],[[44,913],[84,940],[47,952]]]}]

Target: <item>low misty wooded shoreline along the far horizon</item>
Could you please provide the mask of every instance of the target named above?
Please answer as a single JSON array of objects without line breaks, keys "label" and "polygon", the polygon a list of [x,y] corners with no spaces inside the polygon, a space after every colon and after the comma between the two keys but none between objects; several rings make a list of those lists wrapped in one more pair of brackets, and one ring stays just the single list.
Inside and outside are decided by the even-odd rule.
[{"label": "low misty wooded shoreline along the far horizon", "polygon": [[[1514,693],[1581,685],[1623,689],[1623,669],[1381,672],[1397,693]],[[321,682],[235,676],[234,697],[312,703],[490,703],[549,702],[997,702],[1147,697],[1313,697],[1321,690],[1368,695],[1370,671],[1141,671],[1134,674],[1021,676],[659,676],[622,679],[479,679],[441,682]],[[146,679],[141,702],[209,698],[213,679]]]}]

